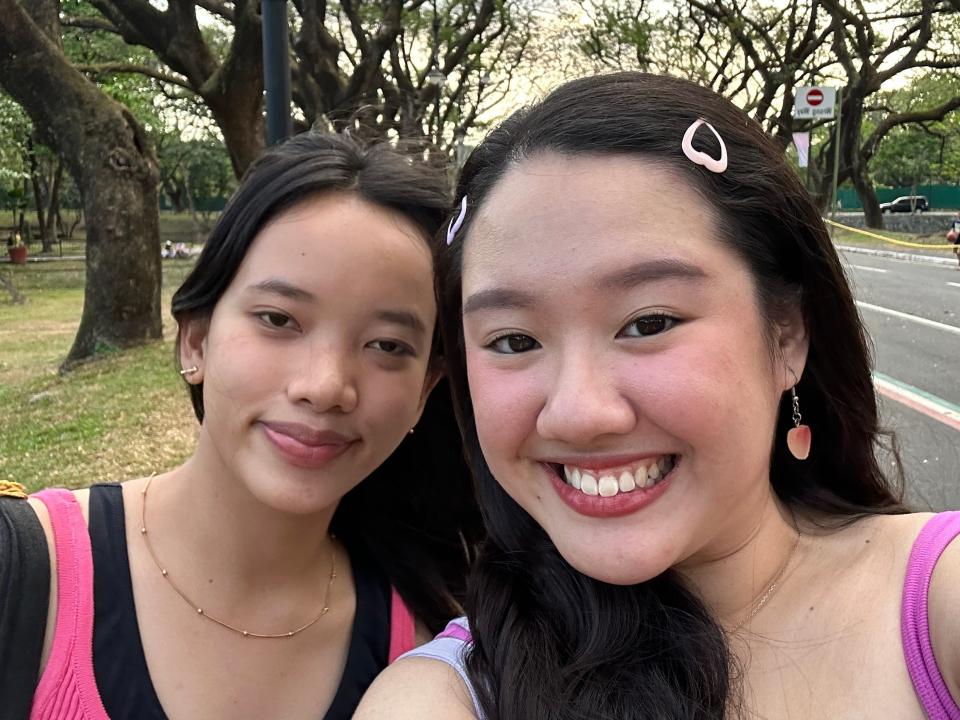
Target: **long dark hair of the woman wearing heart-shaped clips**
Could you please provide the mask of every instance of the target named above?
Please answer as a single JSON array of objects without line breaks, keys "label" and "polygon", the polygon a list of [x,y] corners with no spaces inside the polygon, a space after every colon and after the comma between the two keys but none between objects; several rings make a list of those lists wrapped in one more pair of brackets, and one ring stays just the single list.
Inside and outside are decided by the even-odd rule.
[{"label": "long dark hair of the woman wearing heart-shaped clips", "polygon": [[[681,138],[706,118],[724,139],[729,167],[706,171]],[[709,132],[698,136],[719,155]],[[798,390],[818,437],[805,462],[773,443],[773,489],[798,514],[851,521],[904,512],[897,482],[874,451],[883,434],[870,354],[842,266],[820,214],[780,149],[743,112],[690,82],[642,73],[562,85],[490,133],[463,170],[455,196],[469,212],[439,259],[441,330],[458,421],[476,478],[488,538],[467,599],[474,637],[467,666],[490,720],[723,718],[741,711],[738,664],[723,629],[673,571],[632,586],[574,570],[543,529],[500,487],[480,450],[463,349],[461,258],[476,217],[503,175],[527,157],[634,155],[669,167],[718,216],[720,240],[751,271],[769,329],[799,303],[810,338]],[[894,449],[894,458],[896,452]]]}]

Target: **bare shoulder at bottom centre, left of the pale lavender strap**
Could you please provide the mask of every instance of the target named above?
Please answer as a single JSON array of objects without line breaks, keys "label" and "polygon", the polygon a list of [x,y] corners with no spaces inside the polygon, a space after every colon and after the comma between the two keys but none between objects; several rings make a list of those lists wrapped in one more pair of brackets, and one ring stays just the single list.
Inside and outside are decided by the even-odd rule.
[{"label": "bare shoulder at bottom centre, left of the pale lavender strap", "polygon": [[444,662],[405,658],[388,667],[363,696],[353,720],[476,720],[466,685]]}]

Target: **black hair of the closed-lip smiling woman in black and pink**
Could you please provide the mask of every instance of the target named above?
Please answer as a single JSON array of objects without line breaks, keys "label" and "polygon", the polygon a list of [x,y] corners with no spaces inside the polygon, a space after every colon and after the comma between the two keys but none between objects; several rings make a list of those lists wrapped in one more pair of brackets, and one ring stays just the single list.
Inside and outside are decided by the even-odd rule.
[{"label": "black hair of the closed-lip smiling woman in black and pink", "polygon": [[[258,232],[272,218],[329,192],[356,193],[402,213],[431,244],[446,207],[444,168],[386,144],[310,131],[267,150],[231,197],[196,266],[173,296],[185,320],[207,317],[233,281]],[[179,353],[180,336],[177,335]],[[441,348],[434,334],[431,368]],[[190,385],[202,423],[203,384]],[[389,458],[341,500],[332,532],[351,553],[373,559],[428,628],[439,632],[458,613],[469,551],[481,537],[480,514],[456,431],[449,387],[441,381],[417,424]]]}]

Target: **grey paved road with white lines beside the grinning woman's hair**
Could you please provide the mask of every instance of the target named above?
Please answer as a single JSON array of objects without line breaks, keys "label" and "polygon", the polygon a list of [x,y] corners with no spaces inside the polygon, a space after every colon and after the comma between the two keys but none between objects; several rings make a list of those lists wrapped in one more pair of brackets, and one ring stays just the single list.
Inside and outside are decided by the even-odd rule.
[{"label": "grey paved road with white lines beside the grinning woman's hair", "polygon": [[960,509],[960,272],[841,257],[873,338],[881,413],[900,441],[908,500]]}]

